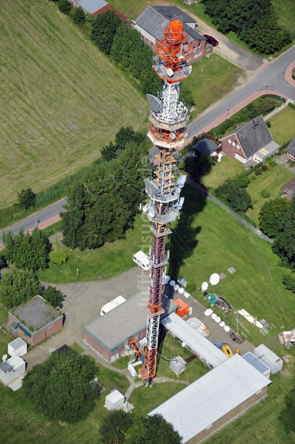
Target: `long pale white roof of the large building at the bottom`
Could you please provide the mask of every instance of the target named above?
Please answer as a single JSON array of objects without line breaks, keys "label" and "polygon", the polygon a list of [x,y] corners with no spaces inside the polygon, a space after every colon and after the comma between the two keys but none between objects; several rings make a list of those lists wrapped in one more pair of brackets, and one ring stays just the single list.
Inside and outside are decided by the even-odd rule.
[{"label": "long pale white roof of the large building at the bottom", "polygon": [[270,383],[267,377],[235,354],[149,415],[162,415],[186,443]]}]

